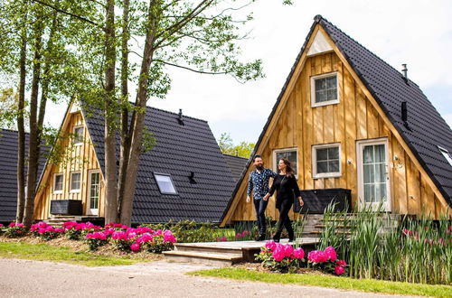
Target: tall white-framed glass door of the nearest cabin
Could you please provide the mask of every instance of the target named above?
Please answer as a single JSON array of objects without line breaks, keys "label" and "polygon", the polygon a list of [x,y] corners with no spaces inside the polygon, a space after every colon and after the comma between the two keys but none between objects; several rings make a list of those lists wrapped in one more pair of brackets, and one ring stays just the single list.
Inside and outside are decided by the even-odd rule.
[{"label": "tall white-framed glass door of the nearest cabin", "polygon": [[388,140],[359,141],[357,156],[360,208],[391,211]]}]

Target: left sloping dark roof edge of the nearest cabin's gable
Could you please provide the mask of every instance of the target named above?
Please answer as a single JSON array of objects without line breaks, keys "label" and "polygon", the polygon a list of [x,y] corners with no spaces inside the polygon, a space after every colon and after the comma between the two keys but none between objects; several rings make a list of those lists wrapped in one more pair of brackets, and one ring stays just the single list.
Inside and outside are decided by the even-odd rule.
[{"label": "left sloping dark roof edge of the nearest cabin's gable", "polygon": [[239,180],[237,181],[237,183],[236,183],[236,185],[235,185],[234,191],[232,191],[231,200],[228,202],[228,206],[226,207],[226,209],[225,209],[224,212],[223,212],[223,215],[221,216],[221,222],[223,221],[224,217],[225,217],[226,214],[228,213],[228,210],[231,208],[232,200],[234,200],[234,197],[235,197],[235,195],[237,194],[237,191],[239,191],[240,184],[241,184],[241,182],[243,181],[243,178],[245,178],[245,174],[246,174],[246,172],[248,171],[248,168],[249,168],[250,163],[251,163],[251,161],[252,161],[252,156],[254,156],[254,154],[256,154],[256,152],[257,152],[257,150],[258,150],[258,148],[259,148],[259,145],[260,145],[260,143],[262,142],[262,139],[264,138],[265,132],[267,131],[268,126],[270,125],[271,119],[273,118],[273,116],[274,116],[275,113],[276,113],[276,110],[277,110],[277,108],[278,108],[279,102],[281,101],[281,98],[283,97],[284,93],[286,92],[288,82],[290,81],[290,79],[292,79],[292,76],[294,75],[295,69],[297,68],[297,65],[298,65],[298,63],[299,63],[299,61],[300,61],[300,59],[301,59],[301,56],[302,56],[303,52],[306,50],[307,42],[309,42],[309,40],[311,39],[311,35],[312,35],[312,33],[314,32],[315,25],[316,25],[317,23],[319,23],[322,19],[323,19],[322,15],[320,15],[320,14],[315,15],[315,17],[314,17],[314,23],[311,25],[311,29],[309,30],[309,33],[308,33],[307,36],[306,36],[306,40],[305,40],[305,42],[303,43],[303,46],[301,47],[301,50],[299,51],[299,53],[298,53],[298,55],[297,55],[297,59],[295,60],[295,63],[294,63],[294,65],[292,66],[292,69],[291,69],[290,72],[288,73],[286,82],[284,83],[283,88],[281,88],[281,92],[279,93],[277,102],[276,102],[275,105],[273,106],[273,108],[272,108],[272,110],[271,110],[271,113],[270,113],[270,115],[268,116],[267,123],[265,124],[264,128],[262,129],[262,132],[261,132],[260,135],[259,135],[258,142],[257,142],[256,145],[254,146],[254,150],[253,150],[252,154],[250,155],[250,158],[248,159],[247,164],[246,164],[245,167],[243,168],[243,171],[242,171],[241,174],[240,174],[240,178],[239,178]]}]

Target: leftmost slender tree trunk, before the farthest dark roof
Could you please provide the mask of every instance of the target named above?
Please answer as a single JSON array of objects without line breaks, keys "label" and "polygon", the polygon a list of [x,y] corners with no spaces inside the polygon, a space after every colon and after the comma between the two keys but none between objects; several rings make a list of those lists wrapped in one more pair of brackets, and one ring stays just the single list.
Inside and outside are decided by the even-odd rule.
[{"label": "leftmost slender tree trunk, before the farthest dark roof", "polygon": [[[26,20],[26,17],[25,17]],[[26,48],[27,36],[26,27],[21,31],[21,58],[19,61],[19,102],[17,104],[17,212],[15,221],[24,221],[25,208],[25,127],[24,127],[24,107],[25,107],[25,77],[26,77]]]}]

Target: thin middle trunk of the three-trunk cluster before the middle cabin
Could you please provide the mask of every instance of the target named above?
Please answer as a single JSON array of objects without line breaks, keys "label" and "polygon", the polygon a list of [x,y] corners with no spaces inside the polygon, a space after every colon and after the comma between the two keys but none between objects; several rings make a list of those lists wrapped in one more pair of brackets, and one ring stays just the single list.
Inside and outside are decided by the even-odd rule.
[{"label": "thin middle trunk of the three-trunk cluster before the middle cabin", "polygon": [[128,138],[128,40],[130,38],[128,31],[128,10],[130,1],[124,0],[124,8],[122,14],[122,44],[121,44],[121,151],[119,157],[119,173],[118,173],[118,218],[121,218],[121,205],[124,197],[124,186],[126,183],[126,171],[128,164],[128,153],[130,150],[130,142]]}]

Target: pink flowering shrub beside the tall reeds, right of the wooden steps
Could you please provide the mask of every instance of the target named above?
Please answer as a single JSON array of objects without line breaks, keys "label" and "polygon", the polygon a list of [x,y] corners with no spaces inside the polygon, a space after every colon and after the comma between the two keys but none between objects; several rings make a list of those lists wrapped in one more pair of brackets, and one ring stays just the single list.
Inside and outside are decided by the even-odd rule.
[{"label": "pink flowering shrub beside the tall reeds, right of the wooden steps", "polygon": [[307,254],[307,262],[313,267],[322,269],[335,275],[343,275],[345,266],[344,260],[338,260],[334,247],[326,247],[324,250],[313,250]]}]

